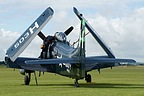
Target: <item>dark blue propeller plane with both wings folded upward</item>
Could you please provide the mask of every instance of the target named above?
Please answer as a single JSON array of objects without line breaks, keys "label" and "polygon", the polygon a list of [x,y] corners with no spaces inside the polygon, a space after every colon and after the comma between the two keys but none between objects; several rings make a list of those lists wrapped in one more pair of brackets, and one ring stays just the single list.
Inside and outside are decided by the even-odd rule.
[{"label": "dark blue propeller plane with both wings folded upward", "polygon": [[[73,26],[64,32],[56,32],[53,36],[48,35],[46,37],[41,32],[54,14],[53,9],[48,7],[6,51],[6,65],[9,68],[20,69],[20,73],[25,75],[25,85],[30,84],[31,73],[34,73],[38,85],[35,71],[39,71],[56,73],[75,79],[74,84],[78,87],[78,80],[80,79],[85,79],[86,82],[92,81],[91,75],[88,74],[89,71],[98,70],[100,72],[102,68],[117,66],[120,63],[135,62],[133,59],[115,58],[110,48],[102,41],[83,14],[75,7],[73,11],[81,22],[77,47],[74,47],[67,40]],[[106,56],[86,56],[86,28],[106,52]],[[40,56],[37,58],[19,57],[37,35],[43,40]]]}]

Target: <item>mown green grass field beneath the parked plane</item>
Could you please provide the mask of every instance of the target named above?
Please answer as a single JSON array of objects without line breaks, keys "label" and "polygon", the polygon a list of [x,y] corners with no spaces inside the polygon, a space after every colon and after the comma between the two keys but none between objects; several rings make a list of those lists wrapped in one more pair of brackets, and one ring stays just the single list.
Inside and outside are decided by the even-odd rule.
[{"label": "mown green grass field beneath the parked plane", "polygon": [[90,72],[91,84],[52,73],[38,77],[35,85],[32,75],[30,86],[23,85],[19,70],[0,68],[0,96],[144,96],[144,67],[114,67]]}]

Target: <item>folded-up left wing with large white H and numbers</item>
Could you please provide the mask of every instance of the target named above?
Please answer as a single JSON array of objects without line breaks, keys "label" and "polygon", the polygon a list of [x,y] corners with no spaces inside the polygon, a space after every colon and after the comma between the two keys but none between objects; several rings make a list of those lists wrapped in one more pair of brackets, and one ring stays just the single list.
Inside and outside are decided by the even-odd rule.
[{"label": "folded-up left wing with large white H and numbers", "polygon": [[47,8],[7,50],[6,55],[8,55],[8,58],[15,61],[46,23],[52,18],[53,13],[52,8]]}]

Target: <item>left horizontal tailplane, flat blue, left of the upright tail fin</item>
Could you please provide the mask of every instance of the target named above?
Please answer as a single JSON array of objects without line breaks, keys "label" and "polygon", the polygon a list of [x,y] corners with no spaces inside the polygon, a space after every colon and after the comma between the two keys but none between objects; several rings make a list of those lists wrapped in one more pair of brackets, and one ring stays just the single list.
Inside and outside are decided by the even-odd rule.
[{"label": "left horizontal tailplane, flat blue, left of the upright tail fin", "polygon": [[78,59],[74,58],[60,58],[60,59],[41,59],[41,60],[28,60],[25,61],[26,64],[60,64],[60,63],[79,63]]}]

